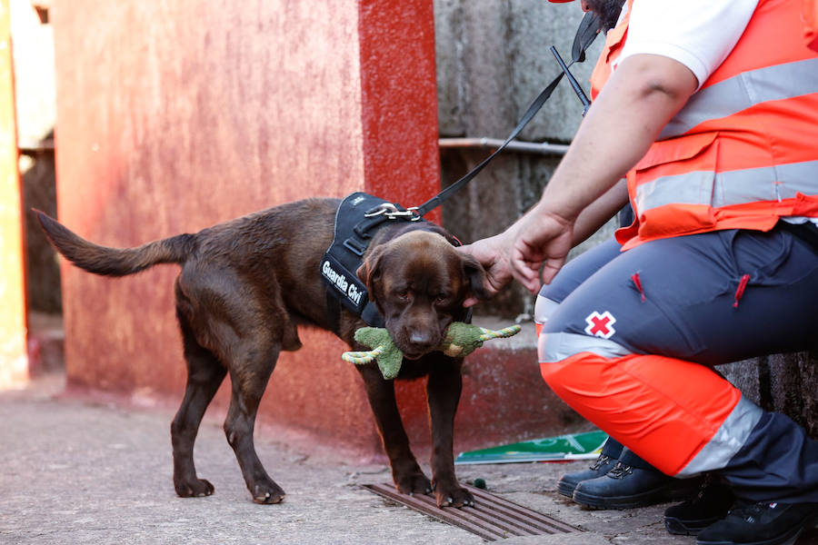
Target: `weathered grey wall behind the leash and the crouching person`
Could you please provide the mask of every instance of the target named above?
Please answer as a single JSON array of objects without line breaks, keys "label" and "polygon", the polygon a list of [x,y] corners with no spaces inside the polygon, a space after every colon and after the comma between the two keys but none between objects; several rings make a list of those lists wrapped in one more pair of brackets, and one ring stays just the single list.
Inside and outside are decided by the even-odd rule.
[{"label": "weathered grey wall behind the leash and the crouching person", "polygon": [[[434,0],[441,138],[510,134],[528,104],[559,68],[550,45],[566,59],[582,18],[578,3],[541,0]],[[602,46],[572,68],[584,84]],[[567,82],[525,129],[521,140],[570,142],[582,107]],[[443,183],[452,183],[487,156],[486,149],[443,149]],[[558,156],[504,153],[467,189],[444,205],[444,223],[464,242],[499,233],[539,198]],[[610,236],[613,223],[594,237]],[[586,243],[586,244],[588,244]],[[578,249],[581,250],[581,249]],[[518,286],[477,312],[513,318],[530,313],[532,297]],[[764,409],[783,411],[818,437],[818,358],[774,355],[723,366],[721,371]]]}]

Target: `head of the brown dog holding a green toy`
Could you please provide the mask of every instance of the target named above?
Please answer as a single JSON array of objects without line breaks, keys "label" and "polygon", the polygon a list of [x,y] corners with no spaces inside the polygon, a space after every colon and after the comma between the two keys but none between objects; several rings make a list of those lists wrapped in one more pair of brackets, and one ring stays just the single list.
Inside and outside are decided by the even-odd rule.
[{"label": "head of the brown dog holding a green toy", "polygon": [[466,297],[486,296],[481,264],[428,231],[410,231],[374,246],[357,274],[410,360],[431,352],[450,323],[465,319]]}]

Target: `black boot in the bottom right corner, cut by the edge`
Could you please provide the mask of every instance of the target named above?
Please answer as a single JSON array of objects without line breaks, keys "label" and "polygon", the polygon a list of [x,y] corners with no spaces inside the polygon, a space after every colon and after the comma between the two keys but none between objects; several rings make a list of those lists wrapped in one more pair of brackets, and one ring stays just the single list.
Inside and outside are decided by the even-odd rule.
[{"label": "black boot in the bottom right corner, cut by the edge", "polygon": [[730,510],[699,532],[698,545],[784,545],[818,523],[818,503],[765,501]]}]

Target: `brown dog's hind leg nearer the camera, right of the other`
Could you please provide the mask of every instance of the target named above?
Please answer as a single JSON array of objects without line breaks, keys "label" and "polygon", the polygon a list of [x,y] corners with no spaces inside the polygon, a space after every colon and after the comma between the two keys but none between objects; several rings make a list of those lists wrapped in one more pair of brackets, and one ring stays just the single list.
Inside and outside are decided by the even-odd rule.
[{"label": "brown dog's hind leg nearer the camera, right of the other", "polygon": [[260,350],[255,345],[246,346],[250,343],[242,344],[245,345],[244,350],[239,349],[236,358],[243,360],[243,364],[231,367],[233,393],[227,419],[224,421],[224,433],[227,435],[227,442],[233,447],[247,490],[253,495],[254,502],[278,503],[284,500],[284,490],[264,471],[264,466],[255,453],[253,431],[258,404],[280,349]]}]

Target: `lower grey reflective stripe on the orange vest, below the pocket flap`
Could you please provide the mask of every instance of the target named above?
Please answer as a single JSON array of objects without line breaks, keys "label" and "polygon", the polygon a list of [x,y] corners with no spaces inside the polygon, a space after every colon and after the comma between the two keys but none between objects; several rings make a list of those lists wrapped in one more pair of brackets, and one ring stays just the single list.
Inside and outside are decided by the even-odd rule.
[{"label": "lower grey reflective stripe on the orange vest, below the pocket flap", "polygon": [[795,193],[818,193],[818,161],[779,164],[724,173],[697,171],[661,176],[636,186],[633,200],[643,213],[665,204],[713,207],[755,201],[781,201]]}]

